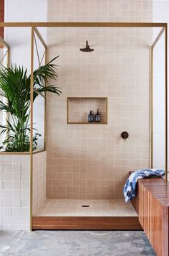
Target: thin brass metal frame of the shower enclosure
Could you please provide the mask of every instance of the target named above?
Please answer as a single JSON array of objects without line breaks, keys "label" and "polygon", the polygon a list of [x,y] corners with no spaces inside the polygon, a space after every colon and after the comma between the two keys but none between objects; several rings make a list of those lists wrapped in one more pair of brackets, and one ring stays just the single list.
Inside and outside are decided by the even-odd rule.
[{"label": "thin brass metal frame of the shower enclosure", "polygon": [[[0,152],[0,155],[30,155],[30,227],[32,230],[32,173],[33,155],[46,149],[46,97],[44,106],[44,150],[33,152],[33,71],[34,71],[34,33],[45,48],[45,63],[47,63],[47,45],[37,27],[161,27],[158,37],[150,46],[150,167],[153,167],[153,49],[165,33],[165,181],[168,181],[168,24],[145,22],[0,22],[0,27],[30,27],[31,32],[31,133],[29,152]],[[4,41],[5,42],[5,41]],[[6,43],[6,42],[5,42]]]}]

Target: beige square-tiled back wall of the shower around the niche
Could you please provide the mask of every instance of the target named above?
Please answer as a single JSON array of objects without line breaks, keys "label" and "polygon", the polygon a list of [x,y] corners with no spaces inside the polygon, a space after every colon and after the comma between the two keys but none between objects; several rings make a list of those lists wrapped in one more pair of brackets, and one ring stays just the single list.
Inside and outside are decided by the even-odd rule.
[{"label": "beige square-tiled back wall of the shower around the niche", "polygon": [[[152,1],[49,1],[48,21],[151,22]],[[128,171],[149,165],[151,30],[64,27],[47,36],[62,88],[47,95],[47,198],[122,198]],[[94,52],[79,51],[86,40]],[[67,124],[70,96],[108,97],[108,124]]]}]

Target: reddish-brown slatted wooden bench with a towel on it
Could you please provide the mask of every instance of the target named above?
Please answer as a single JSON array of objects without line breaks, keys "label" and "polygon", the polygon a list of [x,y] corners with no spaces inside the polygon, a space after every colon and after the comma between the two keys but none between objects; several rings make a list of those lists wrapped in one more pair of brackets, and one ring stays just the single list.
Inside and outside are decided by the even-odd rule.
[{"label": "reddish-brown slatted wooden bench with a towel on it", "polygon": [[132,204],[156,254],[168,256],[169,183],[163,178],[138,180],[137,198]]}]

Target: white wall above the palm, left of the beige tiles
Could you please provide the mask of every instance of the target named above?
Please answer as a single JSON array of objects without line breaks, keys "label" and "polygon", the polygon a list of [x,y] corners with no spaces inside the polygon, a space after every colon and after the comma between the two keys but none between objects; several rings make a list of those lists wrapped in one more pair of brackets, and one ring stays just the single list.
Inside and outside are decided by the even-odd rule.
[{"label": "white wall above the palm, left of the beige tiles", "polygon": [[[47,0],[6,0],[4,22],[47,22]],[[30,68],[30,32],[31,29],[21,27],[5,29],[5,40],[11,46],[11,62],[26,68]],[[46,29],[41,32],[45,40]]]}]

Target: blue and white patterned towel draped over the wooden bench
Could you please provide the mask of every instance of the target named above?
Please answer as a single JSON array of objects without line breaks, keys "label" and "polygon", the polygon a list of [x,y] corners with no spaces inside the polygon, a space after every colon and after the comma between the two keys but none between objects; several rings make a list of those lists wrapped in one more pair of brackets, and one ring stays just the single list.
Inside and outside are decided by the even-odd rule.
[{"label": "blue and white patterned towel draped over the wooden bench", "polygon": [[165,171],[159,169],[136,170],[135,172],[130,174],[130,177],[127,179],[125,187],[123,189],[125,202],[127,203],[127,201],[130,201],[136,196],[137,180],[139,180],[140,178],[158,178],[163,175],[165,175]]}]

